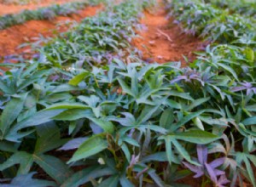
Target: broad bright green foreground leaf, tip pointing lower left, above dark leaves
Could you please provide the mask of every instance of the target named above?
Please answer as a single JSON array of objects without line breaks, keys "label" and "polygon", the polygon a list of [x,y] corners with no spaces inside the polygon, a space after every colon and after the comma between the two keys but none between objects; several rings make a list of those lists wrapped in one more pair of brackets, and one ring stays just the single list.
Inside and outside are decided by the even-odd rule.
[{"label": "broad bright green foreground leaf, tip pointing lower left, above dark leaves", "polygon": [[89,156],[96,155],[97,153],[102,152],[102,150],[106,150],[108,148],[108,142],[102,139],[100,135],[101,134],[97,134],[84,141],[67,163],[79,161],[88,158]]}]

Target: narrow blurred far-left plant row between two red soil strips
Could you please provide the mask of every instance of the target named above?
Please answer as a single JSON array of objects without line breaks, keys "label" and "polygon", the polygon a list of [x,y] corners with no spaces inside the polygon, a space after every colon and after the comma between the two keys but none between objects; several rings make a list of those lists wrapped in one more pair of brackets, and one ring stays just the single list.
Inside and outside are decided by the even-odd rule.
[{"label": "narrow blurred far-left plant row between two red soil strips", "polygon": [[52,20],[58,15],[77,14],[79,9],[82,9],[93,3],[74,2],[55,4],[46,8],[38,8],[36,10],[23,10],[19,14],[6,14],[0,16],[0,30],[6,29],[9,26],[15,26],[25,23],[28,20]]}]

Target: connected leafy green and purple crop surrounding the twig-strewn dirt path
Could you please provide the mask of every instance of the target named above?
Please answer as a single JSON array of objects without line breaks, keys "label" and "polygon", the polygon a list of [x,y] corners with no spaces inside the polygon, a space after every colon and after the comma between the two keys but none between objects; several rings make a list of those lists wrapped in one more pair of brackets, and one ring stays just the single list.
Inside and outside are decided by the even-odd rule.
[{"label": "connected leafy green and purple crop surrounding the twig-strewn dirt path", "polygon": [[164,1],[210,43],[186,67],[131,45],[154,1],[108,2],[32,59],[6,60],[0,184],[256,186],[256,20],[228,2]]}]

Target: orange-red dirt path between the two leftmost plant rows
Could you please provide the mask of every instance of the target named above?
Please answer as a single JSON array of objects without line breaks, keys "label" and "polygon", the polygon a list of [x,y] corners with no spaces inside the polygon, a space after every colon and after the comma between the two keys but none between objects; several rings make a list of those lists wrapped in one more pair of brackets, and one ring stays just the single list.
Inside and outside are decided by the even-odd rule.
[{"label": "orange-red dirt path between the two leftmost plant rows", "polygon": [[[29,48],[18,48],[24,42],[35,42],[39,34],[44,37],[52,37],[57,26],[64,21],[80,21],[85,17],[95,15],[102,6],[87,7],[70,17],[59,16],[55,20],[31,20],[19,26],[12,26],[0,31],[0,57],[10,54],[22,54],[29,52]],[[61,26],[58,32],[67,31],[67,26]]]}]

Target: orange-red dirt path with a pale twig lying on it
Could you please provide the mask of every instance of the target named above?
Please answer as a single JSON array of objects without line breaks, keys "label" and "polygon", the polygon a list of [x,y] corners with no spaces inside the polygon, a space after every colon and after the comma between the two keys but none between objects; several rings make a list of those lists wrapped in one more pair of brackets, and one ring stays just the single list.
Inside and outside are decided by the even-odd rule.
[{"label": "orange-red dirt path with a pale twig lying on it", "polygon": [[166,19],[164,8],[159,8],[155,14],[145,13],[141,23],[147,27],[138,32],[143,37],[133,41],[133,44],[143,51],[143,59],[148,62],[165,63],[169,61],[183,62],[183,55],[190,60],[195,59],[192,52],[205,48],[206,43],[200,39],[182,33],[181,29]]}]

